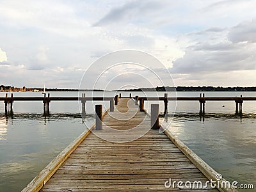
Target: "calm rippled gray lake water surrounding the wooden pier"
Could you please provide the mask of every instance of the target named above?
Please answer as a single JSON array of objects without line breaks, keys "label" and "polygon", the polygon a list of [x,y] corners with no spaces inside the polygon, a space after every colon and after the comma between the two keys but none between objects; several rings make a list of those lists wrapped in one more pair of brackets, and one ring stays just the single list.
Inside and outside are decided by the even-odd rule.
[{"label": "calm rippled gray lake water surrounding the wooden pier", "polygon": [[[42,97],[42,93],[13,93],[14,97]],[[103,92],[86,92],[88,97]],[[112,97],[115,92],[105,92]],[[164,93],[158,93],[163,97]],[[207,97],[256,97],[255,92],[205,92]],[[4,97],[5,93],[0,93]],[[77,97],[77,92],[52,92],[51,97]],[[128,96],[129,92],[122,95]],[[145,96],[141,92],[132,95]],[[168,93],[171,97],[172,92]],[[198,92],[177,92],[177,97],[198,97]],[[147,96],[156,96],[147,93]],[[95,102],[95,104],[102,102]],[[104,102],[108,108],[108,102]],[[52,101],[51,116],[43,115],[42,102],[14,102],[12,116],[4,116],[0,103],[0,191],[21,191],[86,125],[94,123],[92,102],[86,103],[86,125],[79,113],[80,102]],[[148,109],[145,102],[145,109]],[[223,107],[225,106],[225,107]],[[163,103],[160,110],[163,112]],[[175,102],[169,102],[172,113]],[[227,180],[256,187],[256,101],[244,101],[243,116],[236,116],[234,101],[207,102],[205,117],[198,102],[178,101],[170,129]],[[172,118],[168,118],[170,121]],[[248,190],[250,191],[250,190]]]}]

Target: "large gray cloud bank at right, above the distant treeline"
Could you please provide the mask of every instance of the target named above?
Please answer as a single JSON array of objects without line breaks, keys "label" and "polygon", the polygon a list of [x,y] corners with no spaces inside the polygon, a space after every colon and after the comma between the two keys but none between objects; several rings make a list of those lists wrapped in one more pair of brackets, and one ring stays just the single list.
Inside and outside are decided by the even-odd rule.
[{"label": "large gray cloud bank at right, above the distant treeline", "polygon": [[[254,21],[252,21],[254,23]],[[223,72],[232,70],[255,70],[256,39],[252,22],[243,22],[227,31],[220,31],[219,36],[222,41],[212,42],[211,36],[205,39],[204,32],[199,33],[204,36],[197,38],[197,41],[186,47],[186,52],[182,58],[173,61],[172,73],[191,74],[200,72]],[[248,32],[246,34],[246,32]],[[196,35],[198,35],[197,33]],[[242,35],[244,34],[244,35]],[[253,38],[255,36],[255,38]],[[231,38],[231,41],[228,40]],[[241,43],[243,42],[243,43]]]}]

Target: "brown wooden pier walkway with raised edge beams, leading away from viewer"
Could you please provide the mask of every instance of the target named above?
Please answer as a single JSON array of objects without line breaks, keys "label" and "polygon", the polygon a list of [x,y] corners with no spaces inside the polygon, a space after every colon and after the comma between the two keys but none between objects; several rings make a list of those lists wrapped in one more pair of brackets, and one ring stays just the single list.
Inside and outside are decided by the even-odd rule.
[{"label": "brown wooden pier walkway with raised edge beams, leading away from viewer", "polygon": [[[100,110],[97,107],[96,125],[65,148],[23,191],[180,191],[179,181],[205,184],[216,180],[217,172],[168,129],[164,133],[151,129],[164,127],[152,125],[152,116],[140,111],[136,100],[121,97],[114,111],[102,114]],[[134,136],[138,138],[132,140]],[[168,186],[170,178],[176,184],[167,189],[164,184]],[[211,188],[209,183],[198,191],[218,190],[236,191]]]}]

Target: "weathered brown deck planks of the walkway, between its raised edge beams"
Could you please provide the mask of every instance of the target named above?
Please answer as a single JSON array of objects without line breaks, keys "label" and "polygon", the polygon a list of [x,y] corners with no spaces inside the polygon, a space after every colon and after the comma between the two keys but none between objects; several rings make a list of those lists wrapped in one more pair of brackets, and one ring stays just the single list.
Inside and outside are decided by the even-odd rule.
[{"label": "weathered brown deck planks of the walkway, between its raised edge beams", "polygon": [[[208,180],[164,133],[148,131],[150,118],[138,111],[132,99],[119,99],[115,108],[104,117],[103,130],[95,133],[117,142],[131,139],[132,134],[142,137],[115,143],[89,134],[41,191],[166,191],[164,182],[169,178]],[[128,119],[122,120],[124,116]],[[136,125],[140,129],[132,129]],[[132,129],[132,134],[127,129]],[[168,190],[180,191],[177,184]],[[216,189],[208,184],[202,191]]]}]

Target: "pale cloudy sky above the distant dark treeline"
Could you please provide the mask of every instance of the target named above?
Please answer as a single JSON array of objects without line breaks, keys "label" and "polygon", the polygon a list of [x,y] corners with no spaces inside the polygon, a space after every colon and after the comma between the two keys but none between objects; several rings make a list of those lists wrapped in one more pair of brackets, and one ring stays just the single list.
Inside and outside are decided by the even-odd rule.
[{"label": "pale cloudy sky above the distant dark treeline", "polygon": [[78,88],[95,60],[131,49],[163,63],[166,86],[256,86],[253,0],[0,2],[0,84]]}]

